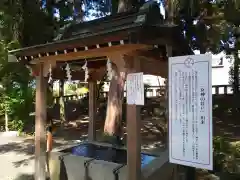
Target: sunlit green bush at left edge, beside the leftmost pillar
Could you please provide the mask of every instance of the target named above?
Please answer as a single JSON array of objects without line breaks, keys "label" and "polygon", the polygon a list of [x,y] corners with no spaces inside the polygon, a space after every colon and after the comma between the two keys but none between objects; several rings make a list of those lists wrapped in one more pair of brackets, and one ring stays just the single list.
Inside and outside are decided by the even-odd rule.
[{"label": "sunlit green bush at left edge, beside the leftmost pillar", "polygon": [[[22,131],[23,123],[33,110],[34,89],[32,78],[23,64],[9,63],[8,50],[18,46],[16,42],[0,44],[0,115],[8,113],[10,128]],[[19,122],[18,122],[19,121]]]}]

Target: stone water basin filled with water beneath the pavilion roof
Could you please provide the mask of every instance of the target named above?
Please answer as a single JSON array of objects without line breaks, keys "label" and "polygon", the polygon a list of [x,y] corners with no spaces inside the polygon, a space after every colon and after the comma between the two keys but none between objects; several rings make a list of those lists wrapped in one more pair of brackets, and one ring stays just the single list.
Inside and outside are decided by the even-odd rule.
[{"label": "stone water basin filled with water beneath the pavilion roof", "polygon": [[[163,165],[165,167],[168,154],[161,157],[161,153],[141,153],[141,160],[142,179],[155,180],[154,177],[161,175],[159,170]],[[126,164],[126,149],[84,142],[51,153],[50,177],[51,180],[127,180]],[[165,167],[163,172],[167,170]]]}]

